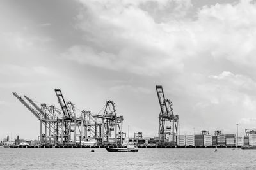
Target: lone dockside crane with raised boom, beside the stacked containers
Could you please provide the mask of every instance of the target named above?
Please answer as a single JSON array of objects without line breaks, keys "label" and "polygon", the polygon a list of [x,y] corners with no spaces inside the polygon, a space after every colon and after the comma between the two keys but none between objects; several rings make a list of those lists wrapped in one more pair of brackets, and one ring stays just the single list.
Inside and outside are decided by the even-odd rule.
[{"label": "lone dockside crane with raised boom, beside the stacked containers", "polygon": [[165,98],[163,87],[161,85],[156,85],[156,92],[161,108],[159,113],[159,142],[163,143],[166,140],[166,134],[168,134],[169,141],[172,141],[172,143],[177,145],[179,115],[174,115],[172,101]]}]

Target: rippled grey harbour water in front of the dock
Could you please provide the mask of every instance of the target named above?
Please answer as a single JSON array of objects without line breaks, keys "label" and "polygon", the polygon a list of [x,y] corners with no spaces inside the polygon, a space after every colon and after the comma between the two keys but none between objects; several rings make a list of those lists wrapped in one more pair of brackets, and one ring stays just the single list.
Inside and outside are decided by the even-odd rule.
[{"label": "rippled grey harbour water in front of the dock", "polygon": [[0,148],[0,169],[256,169],[256,150],[236,148]]}]

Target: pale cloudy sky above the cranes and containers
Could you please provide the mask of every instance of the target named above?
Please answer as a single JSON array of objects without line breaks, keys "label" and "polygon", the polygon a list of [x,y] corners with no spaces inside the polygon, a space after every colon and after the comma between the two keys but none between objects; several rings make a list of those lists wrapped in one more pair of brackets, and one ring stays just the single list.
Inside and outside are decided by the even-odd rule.
[{"label": "pale cloudy sky above the cranes and containers", "polygon": [[107,100],[130,135],[157,136],[156,85],[180,134],[239,136],[256,127],[256,3],[249,0],[2,0],[0,139],[37,139],[40,123],[12,92],[81,110]]}]

